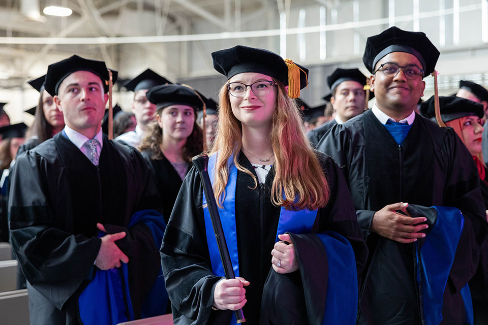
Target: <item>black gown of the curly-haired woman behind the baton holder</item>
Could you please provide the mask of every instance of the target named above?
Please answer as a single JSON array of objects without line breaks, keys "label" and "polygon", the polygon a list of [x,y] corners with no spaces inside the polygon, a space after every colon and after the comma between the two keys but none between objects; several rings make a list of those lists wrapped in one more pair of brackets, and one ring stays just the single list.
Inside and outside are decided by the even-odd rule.
[{"label": "black gown of the curly-haired woman behind the baton holder", "polygon": [[[147,161],[154,174],[156,188],[159,192],[159,197],[162,203],[162,214],[164,221],[168,223],[171,211],[173,211],[174,202],[178,196],[179,188],[183,183],[178,175],[178,172],[173,168],[173,165],[163,155],[162,159],[151,159],[150,152],[142,152],[142,156]],[[188,169],[190,170],[190,168]],[[188,173],[187,170],[187,173]]]}]

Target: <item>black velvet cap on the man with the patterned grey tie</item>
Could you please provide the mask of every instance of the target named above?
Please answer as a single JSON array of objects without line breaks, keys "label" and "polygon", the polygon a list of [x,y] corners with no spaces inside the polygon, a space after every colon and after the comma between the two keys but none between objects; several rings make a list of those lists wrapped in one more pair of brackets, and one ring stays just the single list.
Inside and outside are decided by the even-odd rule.
[{"label": "black velvet cap on the man with the patterned grey tie", "polygon": [[[104,90],[108,92],[109,74],[104,61],[90,60],[73,55],[62,61],[50,64],[47,68],[44,87],[52,96],[57,95],[59,85],[69,75],[77,71],[88,71],[100,77],[103,81]],[[117,71],[111,70],[112,82],[117,80]]]}]

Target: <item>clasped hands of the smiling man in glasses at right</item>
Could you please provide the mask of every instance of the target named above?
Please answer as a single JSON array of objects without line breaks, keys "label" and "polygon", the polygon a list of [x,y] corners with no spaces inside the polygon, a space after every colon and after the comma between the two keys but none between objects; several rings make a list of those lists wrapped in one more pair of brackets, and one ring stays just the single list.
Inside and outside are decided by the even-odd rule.
[{"label": "clasped hands of the smiling man in glasses at right", "polygon": [[[408,203],[390,204],[375,212],[370,230],[378,235],[391,240],[407,244],[417,241],[417,238],[425,237],[419,231],[429,228],[426,224],[418,224],[427,221],[424,217],[412,218],[407,211]],[[403,215],[396,211],[402,211]]]}]

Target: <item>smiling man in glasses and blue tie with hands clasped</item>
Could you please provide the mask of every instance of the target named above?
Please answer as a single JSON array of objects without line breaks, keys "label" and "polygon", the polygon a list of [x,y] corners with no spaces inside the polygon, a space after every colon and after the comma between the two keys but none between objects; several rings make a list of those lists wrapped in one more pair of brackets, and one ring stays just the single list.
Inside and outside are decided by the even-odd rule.
[{"label": "smiling man in glasses and blue tie with hands clasped", "polygon": [[438,57],[423,32],[368,38],[376,105],[318,144],[345,173],[370,251],[361,325],[472,323],[467,283],[488,229],[477,171],[451,128],[415,113]]}]

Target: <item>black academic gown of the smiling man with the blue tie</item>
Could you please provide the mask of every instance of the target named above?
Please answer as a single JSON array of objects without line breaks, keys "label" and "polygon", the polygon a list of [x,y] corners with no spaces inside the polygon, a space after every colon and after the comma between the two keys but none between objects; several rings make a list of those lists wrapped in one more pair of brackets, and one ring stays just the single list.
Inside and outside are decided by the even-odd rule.
[{"label": "black academic gown of the smiling man with the blue tie", "polygon": [[[451,206],[462,211],[465,224],[444,291],[442,324],[464,323],[459,290],[478,267],[479,247],[486,240],[488,224],[479,176],[461,139],[451,128],[440,128],[416,114],[409,134],[399,146],[373,112],[367,111],[334,126],[321,139],[318,149],[331,155],[343,169],[370,250],[358,323],[419,323],[414,244],[401,244],[370,233],[375,211],[398,202],[423,207]],[[396,264],[382,259],[385,249],[398,257]]]}]

